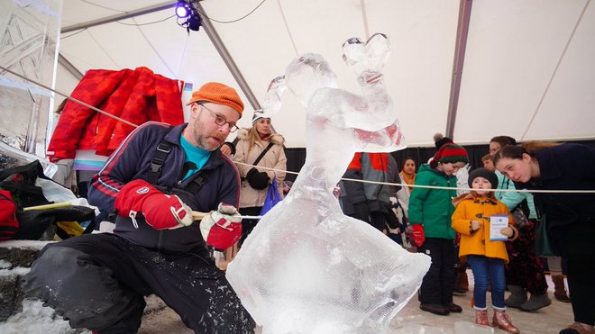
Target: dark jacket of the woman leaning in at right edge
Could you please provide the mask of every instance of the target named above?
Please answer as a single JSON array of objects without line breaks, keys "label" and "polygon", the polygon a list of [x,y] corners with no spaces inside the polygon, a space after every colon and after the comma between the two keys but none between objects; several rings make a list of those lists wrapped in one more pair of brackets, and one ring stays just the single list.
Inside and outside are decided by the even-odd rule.
[{"label": "dark jacket of the woman leaning in at right edge", "polygon": [[[517,189],[594,190],[595,149],[581,144],[562,144],[539,149],[539,178],[515,183]],[[549,237],[555,243],[570,224],[595,224],[595,194],[534,194],[546,215]],[[588,236],[592,238],[592,236]]]}]

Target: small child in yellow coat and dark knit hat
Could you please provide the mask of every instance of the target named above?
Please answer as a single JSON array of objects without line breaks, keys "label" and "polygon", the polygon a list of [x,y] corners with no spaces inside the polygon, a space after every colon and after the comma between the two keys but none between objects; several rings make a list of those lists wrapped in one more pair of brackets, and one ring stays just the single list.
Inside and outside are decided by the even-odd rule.
[{"label": "small child in yellow coat and dark knit hat", "polygon": [[508,239],[517,238],[518,232],[513,227],[507,206],[499,202],[492,191],[487,190],[498,186],[498,176],[494,172],[486,168],[473,170],[469,174],[469,185],[475,190],[471,194],[462,194],[453,201],[456,209],[452,216],[452,226],[453,230],[461,233],[459,257],[467,258],[473,272],[475,323],[490,326],[486,305],[490,283],[494,309],[493,326],[509,333],[518,333],[506,314],[504,304],[504,265],[508,263],[506,245],[505,241],[490,239],[490,217],[497,214],[508,215],[508,227],[499,230]]}]

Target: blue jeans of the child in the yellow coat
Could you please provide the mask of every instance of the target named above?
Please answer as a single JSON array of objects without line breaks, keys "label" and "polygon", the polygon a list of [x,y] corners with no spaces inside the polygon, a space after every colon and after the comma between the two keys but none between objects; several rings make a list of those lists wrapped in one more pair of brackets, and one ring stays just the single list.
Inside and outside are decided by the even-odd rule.
[{"label": "blue jeans of the child in the yellow coat", "polygon": [[495,257],[483,257],[478,255],[467,256],[467,263],[471,266],[475,287],[473,288],[473,300],[475,308],[486,309],[486,293],[488,283],[491,284],[491,304],[494,309],[504,310],[504,289],[506,278],[504,276],[504,260]]}]

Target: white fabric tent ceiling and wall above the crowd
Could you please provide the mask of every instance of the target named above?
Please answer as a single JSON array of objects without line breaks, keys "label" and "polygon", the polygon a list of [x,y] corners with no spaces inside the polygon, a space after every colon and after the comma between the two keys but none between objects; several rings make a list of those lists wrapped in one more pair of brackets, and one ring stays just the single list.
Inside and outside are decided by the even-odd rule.
[{"label": "white fabric tent ceiling and wall above the crowd", "polygon": [[[220,81],[241,91],[205,29],[188,35],[170,17],[173,8],[69,30],[160,5],[168,2],[64,0],[59,53],[81,73],[144,66],[195,87]],[[499,134],[517,140],[595,138],[590,0],[205,0],[200,6],[257,99],[252,104],[262,102],[271,78],[306,52],[323,55],[341,86],[357,92],[341,44],[383,32],[392,47],[387,86],[409,146],[433,145],[435,132],[462,144],[486,143]],[[464,22],[461,6],[471,6],[471,15],[457,86],[453,64],[457,27]],[[78,80],[64,64],[56,87],[70,92]],[[458,104],[451,96],[458,96]],[[240,125],[249,126],[255,105],[244,102]],[[286,93],[273,125],[288,147],[305,147],[304,124],[301,107]]]}]

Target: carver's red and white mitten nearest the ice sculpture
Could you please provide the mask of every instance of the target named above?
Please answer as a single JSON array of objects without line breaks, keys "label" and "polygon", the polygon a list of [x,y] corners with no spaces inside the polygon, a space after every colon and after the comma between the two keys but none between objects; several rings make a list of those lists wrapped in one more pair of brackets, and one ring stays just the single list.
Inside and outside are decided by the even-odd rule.
[{"label": "carver's red and white mitten nearest the ice sculpture", "polygon": [[242,218],[233,205],[219,203],[200,221],[200,233],[206,244],[215,249],[227,249],[242,236]]}]

